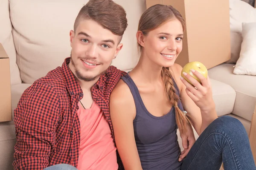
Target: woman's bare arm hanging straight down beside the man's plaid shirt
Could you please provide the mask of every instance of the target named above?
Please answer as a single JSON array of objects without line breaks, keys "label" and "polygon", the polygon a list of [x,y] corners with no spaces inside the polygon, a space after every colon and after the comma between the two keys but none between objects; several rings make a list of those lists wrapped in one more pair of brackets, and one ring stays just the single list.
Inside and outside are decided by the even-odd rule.
[{"label": "woman's bare arm hanging straight down beside the man's plaid shirt", "polygon": [[131,91],[122,79],[111,93],[110,115],[116,147],[125,170],[142,170],[134,138],[136,108]]}]

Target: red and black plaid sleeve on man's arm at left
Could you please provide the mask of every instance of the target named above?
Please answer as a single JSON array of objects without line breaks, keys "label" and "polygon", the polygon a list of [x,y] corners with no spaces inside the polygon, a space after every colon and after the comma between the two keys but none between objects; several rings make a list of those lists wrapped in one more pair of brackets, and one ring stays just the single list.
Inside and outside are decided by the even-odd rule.
[{"label": "red and black plaid sleeve on man's arm at left", "polygon": [[24,91],[14,111],[15,170],[43,170],[49,166],[59,105],[58,94],[47,84],[35,82]]}]

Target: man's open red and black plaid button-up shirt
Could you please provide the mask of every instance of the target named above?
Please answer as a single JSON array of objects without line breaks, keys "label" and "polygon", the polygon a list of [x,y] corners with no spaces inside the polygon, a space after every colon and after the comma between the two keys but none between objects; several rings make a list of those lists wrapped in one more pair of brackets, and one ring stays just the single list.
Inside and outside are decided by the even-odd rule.
[{"label": "man's open red and black plaid button-up shirt", "polygon": [[[14,111],[17,143],[15,170],[43,170],[55,164],[77,167],[80,145],[78,102],[83,91],[65,59],[62,67],[36,80],[22,94]],[[125,72],[111,66],[91,88],[93,100],[105,114],[113,136],[109,114],[110,94]],[[122,161],[117,153],[119,169]]]}]

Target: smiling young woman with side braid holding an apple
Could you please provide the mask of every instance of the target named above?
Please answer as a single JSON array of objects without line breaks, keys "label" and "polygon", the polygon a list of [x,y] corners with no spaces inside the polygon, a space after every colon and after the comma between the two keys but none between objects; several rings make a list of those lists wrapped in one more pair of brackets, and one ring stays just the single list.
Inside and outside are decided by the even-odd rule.
[{"label": "smiling young woman with side braid holding an apple", "polygon": [[[222,161],[225,170],[254,170],[247,133],[239,120],[218,118],[209,77],[191,70],[200,84],[184,73],[195,88],[180,77],[182,68],[175,59],[182,50],[184,26],[172,6],[152,6],[140,18],[140,60],[110,99],[125,170],[219,170]],[[190,122],[200,136],[186,155],[180,153],[176,131],[193,143]]]}]

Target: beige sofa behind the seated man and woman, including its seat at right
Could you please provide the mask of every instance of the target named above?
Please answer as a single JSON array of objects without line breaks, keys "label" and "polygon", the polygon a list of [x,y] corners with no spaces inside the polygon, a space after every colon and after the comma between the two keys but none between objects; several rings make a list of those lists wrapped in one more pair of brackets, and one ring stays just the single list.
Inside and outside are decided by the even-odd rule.
[{"label": "beige sofa behind the seated man and woman, including its seat at right", "polygon": [[[113,65],[128,71],[138,61],[135,34],[146,9],[145,0],[115,1],[127,11],[128,28],[122,40],[124,47]],[[0,0],[0,43],[10,58],[12,111],[27,87],[70,56],[69,31],[85,3],[87,0]],[[232,69],[232,64],[209,69],[216,109],[219,116],[237,117],[249,132],[256,77],[237,76]],[[13,169],[15,142],[14,123],[0,123],[0,170]]]}]

